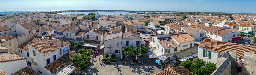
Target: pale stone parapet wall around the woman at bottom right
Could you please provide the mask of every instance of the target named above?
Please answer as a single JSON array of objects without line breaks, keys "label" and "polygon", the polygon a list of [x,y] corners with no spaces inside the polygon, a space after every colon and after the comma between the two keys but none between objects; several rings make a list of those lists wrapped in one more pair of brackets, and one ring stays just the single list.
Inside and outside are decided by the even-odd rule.
[{"label": "pale stone parapet wall around the woman at bottom right", "polygon": [[[218,60],[217,69],[211,75],[238,75],[237,69],[237,52],[226,51]],[[256,75],[256,54],[244,53],[244,63],[242,64],[242,75]]]}]

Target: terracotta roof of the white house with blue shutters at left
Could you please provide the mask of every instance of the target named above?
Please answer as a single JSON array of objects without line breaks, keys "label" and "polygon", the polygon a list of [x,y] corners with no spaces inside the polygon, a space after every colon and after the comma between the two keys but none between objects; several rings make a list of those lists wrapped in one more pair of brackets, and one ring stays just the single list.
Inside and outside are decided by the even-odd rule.
[{"label": "terracotta roof of the white house with blue shutters at left", "polygon": [[63,46],[68,45],[70,42],[64,41],[63,45],[61,45],[61,40],[52,38],[52,45],[50,45],[50,40],[48,37],[44,37],[43,39],[29,42],[28,44],[37,49],[39,52],[47,55]]}]

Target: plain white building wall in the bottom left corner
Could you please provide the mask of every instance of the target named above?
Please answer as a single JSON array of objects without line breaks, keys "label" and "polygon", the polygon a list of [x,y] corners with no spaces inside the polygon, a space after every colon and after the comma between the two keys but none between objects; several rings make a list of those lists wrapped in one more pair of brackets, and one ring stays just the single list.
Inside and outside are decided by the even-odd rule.
[{"label": "plain white building wall in the bottom left corner", "polygon": [[26,59],[9,61],[9,62],[1,62],[0,70],[2,72],[4,72],[6,75],[11,75],[12,73],[15,73],[16,71],[19,71],[22,68],[25,68],[27,66],[26,64],[27,64]]}]

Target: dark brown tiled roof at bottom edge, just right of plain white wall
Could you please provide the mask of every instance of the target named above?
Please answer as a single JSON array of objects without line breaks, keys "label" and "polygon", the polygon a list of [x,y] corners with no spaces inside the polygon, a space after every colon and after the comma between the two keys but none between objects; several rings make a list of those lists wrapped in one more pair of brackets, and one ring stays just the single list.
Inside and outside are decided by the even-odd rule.
[{"label": "dark brown tiled roof at bottom edge, just right of plain white wall", "polygon": [[16,71],[15,73],[12,73],[11,75],[39,75],[39,74],[34,70],[32,70],[31,68],[25,67],[19,71]]}]

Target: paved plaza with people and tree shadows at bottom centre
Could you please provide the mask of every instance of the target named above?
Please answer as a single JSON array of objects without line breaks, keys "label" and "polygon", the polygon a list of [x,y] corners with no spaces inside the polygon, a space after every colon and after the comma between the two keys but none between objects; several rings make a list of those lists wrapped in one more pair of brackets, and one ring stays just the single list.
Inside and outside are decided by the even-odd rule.
[{"label": "paved plaza with people and tree shadows at bottom centre", "polygon": [[121,70],[119,73],[116,63],[101,64],[99,58],[103,58],[103,50],[100,50],[96,56],[96,60],[92,60],[90,65],[83,70],[83,75],[145,75],[146,71],[150,71],[151,74],[162,71],[162,69],[157,68],[156,63],[154,62],[155,60],[148,58],[146,53],[144,53],[143,60],[145,61],[145,64],[143,65],[136,63],[132,66],[129,64],[129,61],[127,64],[122,64],[122,62],[118,62],[121,57],[116,57],[116,60],[119,63],[118,67],[120,67]]}]

